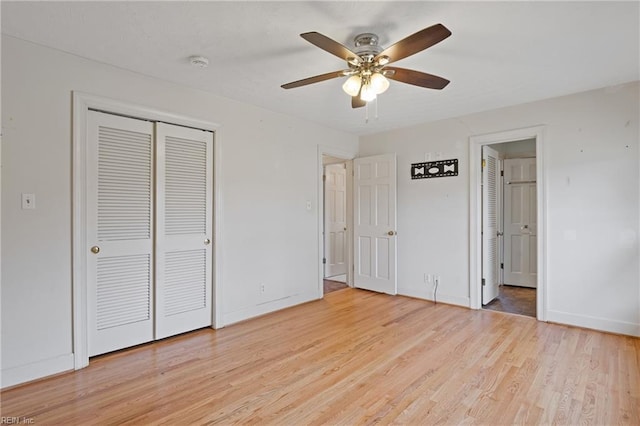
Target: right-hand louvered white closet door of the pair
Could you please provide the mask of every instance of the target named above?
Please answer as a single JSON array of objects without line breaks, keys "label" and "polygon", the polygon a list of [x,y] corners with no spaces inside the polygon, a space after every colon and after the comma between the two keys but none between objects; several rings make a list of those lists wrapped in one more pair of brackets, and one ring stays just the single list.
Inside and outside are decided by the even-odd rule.
[{"label": "right-hand louvered white closet door of the pair", "polygon": [[213,133],[156,124],[156,339],[211,325]]}]

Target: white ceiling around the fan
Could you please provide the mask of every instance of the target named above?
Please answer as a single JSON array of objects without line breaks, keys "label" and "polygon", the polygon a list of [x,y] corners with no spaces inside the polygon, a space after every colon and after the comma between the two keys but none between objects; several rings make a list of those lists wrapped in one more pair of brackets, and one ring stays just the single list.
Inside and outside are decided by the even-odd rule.
[{"label": "white ceiling around the fan", "polygon": [[[10,2],[2,33],[354,134],[377,133],[640,79],[640,3]],[[391,82],[353,110],[342,79],[280,85],[345,63],[299,37],[387,47],[436,23],[453,35],[399,67],[451,80],[442,91]],[[210,58],[205,69],[190,55]],[[396,65],[394,64],[394,65]],[[46,64],[43,64],[46,66]]]}]

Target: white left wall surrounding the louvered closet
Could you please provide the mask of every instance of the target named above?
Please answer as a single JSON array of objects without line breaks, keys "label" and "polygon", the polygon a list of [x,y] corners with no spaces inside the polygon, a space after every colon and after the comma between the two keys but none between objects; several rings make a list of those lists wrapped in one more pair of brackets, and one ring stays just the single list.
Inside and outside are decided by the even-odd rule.
[{"label": "white left wall surrounding the louvered closet", "polygon": [[224,323],[321,294],[318,145],[357,137],[3,36],[2,386],[73,366],[74,90],[220,124]]}]

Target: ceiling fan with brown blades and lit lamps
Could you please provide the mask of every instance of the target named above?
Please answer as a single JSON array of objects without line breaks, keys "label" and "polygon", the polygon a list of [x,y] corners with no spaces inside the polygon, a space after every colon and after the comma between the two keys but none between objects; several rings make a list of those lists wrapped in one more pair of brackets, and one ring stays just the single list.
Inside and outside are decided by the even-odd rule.
[{"label": "ceiling fan with brown blades and lit lamps", "polygon": [[360,108],[389,88],[389,80],[413,84],[428,89],[442,89],[449,80],[406,68],[390,67],[390,63],[404,59],[451,35],[444,25],[436,24],[406,37],[383,49],[378,46],[378,36],[373,33],[359,34],[354,38],[352,51],[335,40],[318,32],[300,34],[309,43],[347,62],[348,68],[283,84],[283,89],[306,86],[338,77],[349,77],[342,89],[351,96],[351,107]]}]

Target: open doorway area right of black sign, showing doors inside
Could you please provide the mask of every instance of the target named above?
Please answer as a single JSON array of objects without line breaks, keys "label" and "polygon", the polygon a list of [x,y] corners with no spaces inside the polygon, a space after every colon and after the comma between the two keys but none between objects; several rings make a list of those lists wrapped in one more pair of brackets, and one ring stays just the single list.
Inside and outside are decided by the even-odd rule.
[{"label": "open doorway area right of black sign, showing doors inside", "polygon": [[536,317],[536,140],[482,154],[482,307]]}]

